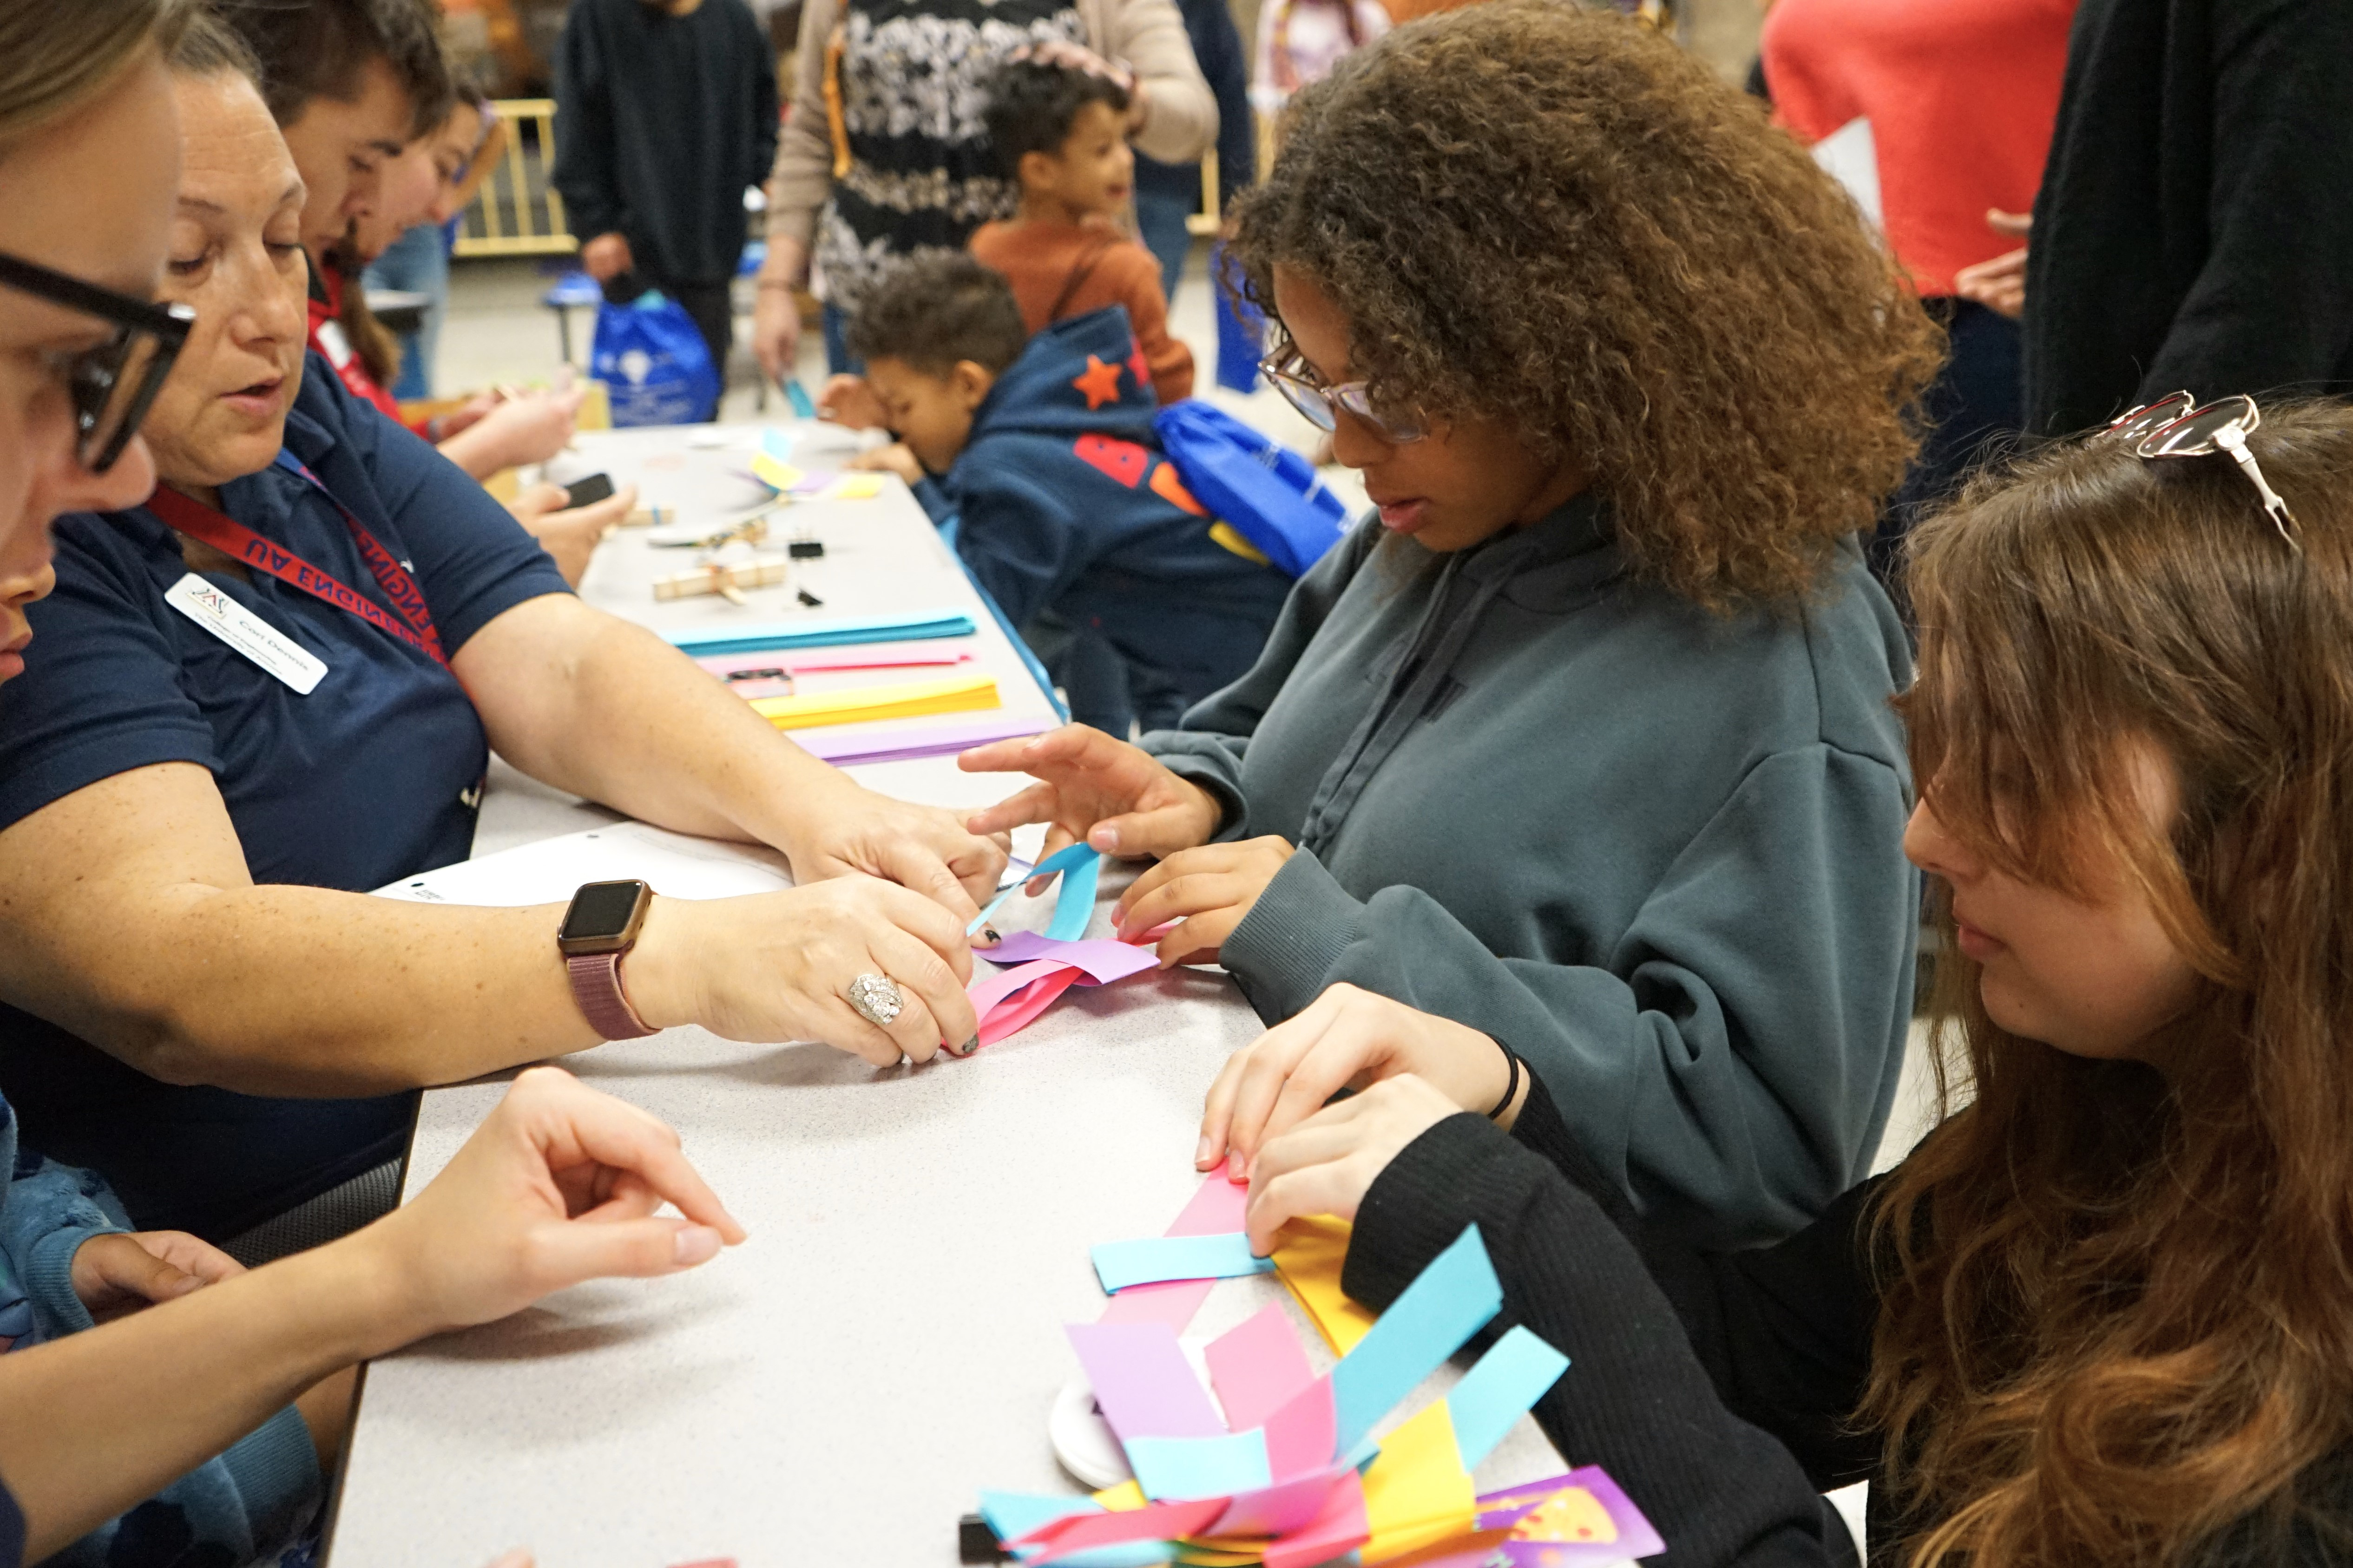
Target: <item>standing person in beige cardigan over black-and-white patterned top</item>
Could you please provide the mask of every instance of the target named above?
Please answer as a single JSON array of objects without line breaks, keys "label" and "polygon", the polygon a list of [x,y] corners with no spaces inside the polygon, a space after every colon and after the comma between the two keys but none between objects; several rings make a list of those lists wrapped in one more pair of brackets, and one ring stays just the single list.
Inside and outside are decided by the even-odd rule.
[{"label": "standing person in beige cardigan over black-and-white patterned top", "polygon": [[1151,158],[1193,162],[1217,139],[1217,99],[1172,0],[809,0],[767,188],[753,350],[769,376],[793,374],[793,287],[812,254],[826,357],[849,371],[842,331],[889,263],[960,252],[1014,214],[981,110],[986,78],[1016,54],[1118,78],[1127,134]]}]

